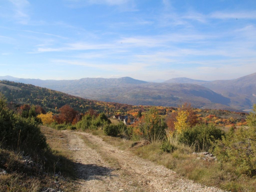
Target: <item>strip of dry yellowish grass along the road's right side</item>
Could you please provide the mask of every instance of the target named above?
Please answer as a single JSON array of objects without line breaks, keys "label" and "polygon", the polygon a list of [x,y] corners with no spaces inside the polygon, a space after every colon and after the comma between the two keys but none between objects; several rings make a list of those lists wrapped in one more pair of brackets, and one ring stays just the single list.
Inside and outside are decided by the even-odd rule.
[{"label": "strip of dry yellowish grass along the road's right side", "polygon": [[141,158],[164,165],[195,182],[229,191],[255,191],[255,178],[234,173],[233,168],[228,164],[198,160],[197,156],[192,154],[193,149],[185,145],[178,145],[177,150],[170,154],[160,150],[160,142],[131,147],[133,141],[105,136],[102,131],[91,133],[100,136],[105,142],[117,146],[121,150],[130,150]]}]

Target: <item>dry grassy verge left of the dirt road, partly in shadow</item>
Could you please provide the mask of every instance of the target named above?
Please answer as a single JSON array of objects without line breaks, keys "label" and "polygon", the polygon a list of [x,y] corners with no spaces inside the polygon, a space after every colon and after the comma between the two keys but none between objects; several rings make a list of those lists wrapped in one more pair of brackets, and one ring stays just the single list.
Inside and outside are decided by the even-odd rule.
[{"label": "dry grassy verge left of the dirt road, partly in shadow", "polygon": [[[0,175],[0,192],[39,191],[43,187],[76,191],[74,167],[70,160],[72,154],[67,150],[65,135],[48,127],[41,127],[41,131],[46,135],[51,150],[44,154],[38,154],[32,159],[34,162],[42,164],[40,158],[43,156],[47,158],[43,171],[36,167],[25,167],[21,153],[0,148],[0,168],[8,173]],[[54,173],[56,172],[61,172],[63,177],[55,178]]]}]

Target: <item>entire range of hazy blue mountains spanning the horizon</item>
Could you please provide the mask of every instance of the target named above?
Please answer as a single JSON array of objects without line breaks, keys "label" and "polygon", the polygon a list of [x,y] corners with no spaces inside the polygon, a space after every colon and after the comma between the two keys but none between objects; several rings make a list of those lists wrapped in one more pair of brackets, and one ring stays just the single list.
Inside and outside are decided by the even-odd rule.
[{"label": "entire range of hazy blue mountains spanning the horizon", "polygon": [[196,108],[244,110],[256,103],[256,73],[234,80],[202,81],[174,78],[163,83],[130,77],[41,80],[0,76],[87,99],[132,105],[178,106],[190,102]]}]

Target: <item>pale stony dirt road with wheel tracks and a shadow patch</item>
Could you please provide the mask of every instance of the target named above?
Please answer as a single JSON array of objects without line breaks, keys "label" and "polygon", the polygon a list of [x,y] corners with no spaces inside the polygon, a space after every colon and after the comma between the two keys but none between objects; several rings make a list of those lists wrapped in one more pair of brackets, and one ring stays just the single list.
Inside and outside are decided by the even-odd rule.
[{"label": "pale stony dirt road with wheel tracks and a shadow patch", "polygon": [[183,179],[172,170],[120,151],[97,136],[63,133],[68,136],[69,150],[74,152],[80,191],[222,191]]}]

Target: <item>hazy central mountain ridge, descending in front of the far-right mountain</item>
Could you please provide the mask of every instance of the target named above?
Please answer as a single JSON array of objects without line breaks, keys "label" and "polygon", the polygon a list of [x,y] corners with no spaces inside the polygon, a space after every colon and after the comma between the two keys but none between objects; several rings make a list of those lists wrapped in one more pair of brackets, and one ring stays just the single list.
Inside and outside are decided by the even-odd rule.
[{"label": "hazy central mountain ridge, descending in front of the far-right mountain", "polygon": [[196,108],[235,110],[228,106],[230,99],[197,84],[153,83],[130,77],[16,81],[106,102],[161,106],[178,106],[190,102]]}]

